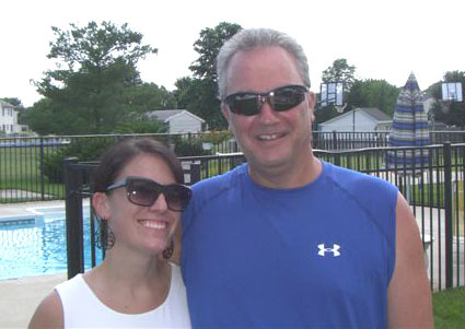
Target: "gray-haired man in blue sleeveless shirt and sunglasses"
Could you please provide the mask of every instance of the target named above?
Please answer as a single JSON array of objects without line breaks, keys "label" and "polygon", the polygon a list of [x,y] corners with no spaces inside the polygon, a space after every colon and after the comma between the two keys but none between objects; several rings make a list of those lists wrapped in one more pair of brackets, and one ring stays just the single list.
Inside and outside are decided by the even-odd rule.
[{"label": "gray-haired man in blue sleeveless shirt and sunglasses", "polygon": [[432,327],[405,199],[312,153],[302,48],[244,30],[217,64],[222,113],[247,164],[197,184],[184,216],[194,327]]}]

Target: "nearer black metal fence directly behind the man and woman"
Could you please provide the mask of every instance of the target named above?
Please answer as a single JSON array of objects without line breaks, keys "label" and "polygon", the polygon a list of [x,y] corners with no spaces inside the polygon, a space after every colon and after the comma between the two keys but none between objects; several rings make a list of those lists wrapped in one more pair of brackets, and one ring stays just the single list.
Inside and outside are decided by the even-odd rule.
[{"label": "nearer black metal fence directly behind the man and woman", "polygon": [[[377,176],[396,185],[406,196],[417,219],[431,289],[465,285],[465,143],[422,148],[421,153],[428,161],[411,171],[386,163],[388,152],[395,151],[402,157],[414,149],[371,148],[314,152],[323,161]],[[244,163],[245,158],[241,153],[235,153],[181,157],[181,161],[185,179],[191,184],[222,174]],[[89,197],[86,184],[95,164],[78,163],[75,160],[67,161],[66,164],[68,275],[73,277],[84,270],[82,199]],[[92,214],[90,219],[91,222],[95,221]]]}]

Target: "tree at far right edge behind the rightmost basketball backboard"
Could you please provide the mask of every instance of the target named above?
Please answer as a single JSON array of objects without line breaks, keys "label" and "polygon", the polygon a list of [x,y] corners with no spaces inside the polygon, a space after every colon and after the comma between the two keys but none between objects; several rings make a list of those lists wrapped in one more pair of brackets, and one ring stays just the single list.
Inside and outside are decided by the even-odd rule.
[{"label": "tree at far right edge behind the rightmost basketball backboard", "polygon": [[[462,95],[465,95],[465,72],[449,71],[444,74],[444,82],[462,82]],[[447,126],[465,128],[465,102],[450,102],[442,104],[441,82],[432,84],[428,93],[435,99],[432,106],[432,116],[435,121],[444,122]],[[444,106],[443,106],[444,105]]]}]

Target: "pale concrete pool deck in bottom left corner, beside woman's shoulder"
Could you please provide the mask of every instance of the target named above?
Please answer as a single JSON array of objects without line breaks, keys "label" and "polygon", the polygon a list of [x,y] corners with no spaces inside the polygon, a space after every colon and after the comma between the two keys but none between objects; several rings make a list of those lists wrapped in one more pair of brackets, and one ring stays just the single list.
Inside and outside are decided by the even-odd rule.
[{"label": "pale concrete pool deck in bottom left corner, beside woman's shoulder", "polygon": [[66,273],[0,281],[0,328],[27,328],[40,301],[65,280]]}]

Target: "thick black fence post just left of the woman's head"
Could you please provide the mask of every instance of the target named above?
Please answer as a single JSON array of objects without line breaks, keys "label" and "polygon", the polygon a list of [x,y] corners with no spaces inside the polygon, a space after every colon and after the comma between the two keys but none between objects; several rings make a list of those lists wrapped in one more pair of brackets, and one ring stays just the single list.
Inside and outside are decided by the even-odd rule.
[{"label": "thick black fence post just left of the woman's head", "polygon": [[77,163],[77,157],[63,160],[68,279],[84,272],[82,196],[80,193],[82,175],[72,168]]}]

